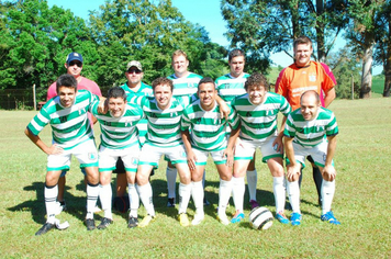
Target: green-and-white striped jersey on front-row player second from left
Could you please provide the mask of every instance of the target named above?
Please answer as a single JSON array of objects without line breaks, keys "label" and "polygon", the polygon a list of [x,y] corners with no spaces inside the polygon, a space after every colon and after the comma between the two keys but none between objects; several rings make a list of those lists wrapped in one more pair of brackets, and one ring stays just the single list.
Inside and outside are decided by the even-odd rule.
[{"label": "green-and-white striped jersey on front-row player second from left", "polygon": [[114,117],[110,112],[107,114],[98,113],[98,105],[99,102],[92,104],[92,114],[100,124],[100,145],[112,149],[139,145],[136,125],[144,116],[144,113],[138,105],[127,103],[121,117]]}]

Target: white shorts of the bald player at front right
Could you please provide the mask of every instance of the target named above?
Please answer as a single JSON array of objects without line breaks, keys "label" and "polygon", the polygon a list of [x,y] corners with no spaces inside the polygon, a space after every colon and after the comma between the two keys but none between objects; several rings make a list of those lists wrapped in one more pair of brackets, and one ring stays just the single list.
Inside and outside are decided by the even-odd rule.
[{"label": "white shorts of the bald player at front right", "polygon": [[[314,164],[319,167],[324,167],[327,157],[327,139],[325,138],[321,144],[314,147],[303,147],[293,142],[294,159],[299,161],[302,167],[305,167],[305,158],[311,156],[314,160]],[[287,164],[289,160],[287,158]],[[334,161],[332,161],[334,166]]]}]

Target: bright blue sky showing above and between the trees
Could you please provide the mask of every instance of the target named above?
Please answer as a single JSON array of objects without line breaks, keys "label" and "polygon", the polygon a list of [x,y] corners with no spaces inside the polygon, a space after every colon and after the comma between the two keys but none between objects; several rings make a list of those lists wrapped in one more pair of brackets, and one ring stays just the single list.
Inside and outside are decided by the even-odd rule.
[{"label": "bright blue sky showing above and between the trees", "polygon": [[[172,5],[178,8],[186,20],[191,23],[198,23],[205,27],[209,32],[209,37],[212,42],[224,47],[228,47],[230,43],[224,36],[227,31],[227,24],[223,20],[220,11],[220,0],[171,0]],[[104,4],[105,0],[47,0],[48,5],[54,4],[70,9],[70,11],[85,20],[88,20],[89,11],[99,10],[99,5]],[[337,45],[343,45],[339,41]],[[287,67],[292,64],[292,59],[284,53],[271,54],[271,60],[275,66]],[[373,75],[380,74],[382,67],[373,68]]]}]

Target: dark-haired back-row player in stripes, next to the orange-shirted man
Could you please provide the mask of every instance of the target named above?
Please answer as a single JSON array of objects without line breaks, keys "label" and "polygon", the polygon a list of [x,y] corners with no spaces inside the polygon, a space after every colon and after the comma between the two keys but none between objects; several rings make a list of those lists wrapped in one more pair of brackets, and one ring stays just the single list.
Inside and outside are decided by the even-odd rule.
[{"label": "dark-haired back-row player in stripes, next to the orange-shirted man", "polygon": [[[220,97],[230,103],[235,97],[246,93],[244,88],[249,75],[244,72],[246,64],[245,53],[242,49],[235,48],[228,54],[230,72],[216,79],[216,88]],[[227,128],[230,134],[230,128]],[[255,153],[254,158],[247,168],[247,187],[249,194],[249,204],[252,209],[258,206],[257,202],[257,170],[255,168]],[[235,191],[235,190],[234,190]]]}]

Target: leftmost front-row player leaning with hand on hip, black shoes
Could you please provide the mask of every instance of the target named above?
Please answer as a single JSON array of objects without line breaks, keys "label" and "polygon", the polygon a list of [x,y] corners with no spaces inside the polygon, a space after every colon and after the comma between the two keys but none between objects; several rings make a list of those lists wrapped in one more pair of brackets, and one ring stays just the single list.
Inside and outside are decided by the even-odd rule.
[{"label": "leftmost front-row player leaning with hand on hip, black shoes", "polygon": [[[98,97],[86,90],[77,90],[77,81],[71,75],[57,79],[58,95],[51,99],[33,117],[24,133],[45,154],[47,173],[45,181],[45,205],[47,221],[35,235],[43,235],[58,224],[56,219],[57,182],[62,170],[69,169],[71,155],[87,172],[87,216],[88,230],[96,228],[93,209],[99,194],[98,153],[87,111]],[[52,126],[54,144],[47,146],[38,136],[47,125]]]}]

